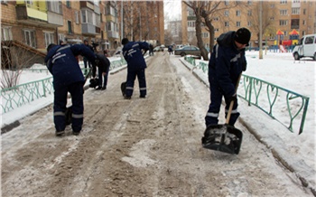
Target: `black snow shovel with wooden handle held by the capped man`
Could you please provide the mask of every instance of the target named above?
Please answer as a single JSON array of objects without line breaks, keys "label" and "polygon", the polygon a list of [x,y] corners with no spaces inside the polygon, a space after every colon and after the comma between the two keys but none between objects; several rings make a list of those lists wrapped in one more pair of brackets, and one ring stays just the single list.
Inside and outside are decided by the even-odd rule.
[{"label": "black snow shovel with wooden handle held by the capped man", "polygon": [[[236,91],[240,77],[241,74],[237,80]],[[229,104],[228,116],[224,125],[209,125],[205,129],[202,137],[202,146],[204,148],[238,155],[243,133],[236,127],[228,125],[233,106],[234,100]]]}]

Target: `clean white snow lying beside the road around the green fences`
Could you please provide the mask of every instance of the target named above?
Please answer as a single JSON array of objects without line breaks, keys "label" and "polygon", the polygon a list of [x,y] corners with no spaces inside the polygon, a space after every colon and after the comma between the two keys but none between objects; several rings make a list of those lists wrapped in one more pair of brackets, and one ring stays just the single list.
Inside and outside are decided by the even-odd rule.
[{"label": "clean white snow lying beside the road around the green fences", "polygon": [[[258,129],[258,133],[261,132],[260,135],[265,139],[265,141],[268,141],[267,144],[275,146],[280,145],[278,143],[278,140],[280,139],[285,145],[287,145],[287,147],[284,147],[284,149],[290,150],[294,153],[294,155],[300,155],[299,159],[308,166],[313,166],[313,172],[315,172],[316,61],[311,61],[311,59],[306,59],[305,61],[293,61],[292,53],[267,52],[267,54],[265,54],[264,52],[264,59],[262,60],[259,60],[258,56],[258,52],[246,52],[248,64],[247,70],[244,72],[244,74],[256,77],[260,80],[268,81],[284,89],[290,89],[293,92],[310,98],[304,129],[301,135],[298,135],[297,130],[294,130],[294,132],[291,133],[286,128],[284,129],[280,123],[275,122],[272,118],[265,116],[265,114],[262,117],[257,117],[257,115],[255,115],[253,112],[253,109],[256,107],[247,107],[246,102],[242,101],[239,103],[241,118],[243,118],[246,122],[249,120],[252,124],[251,127]],[[181,61],[179,61],[179,65],[176,66],[183,66],[183,64]],[[42,68],[45,67],[42,66]],[[115,70],[112,70],[112,72],[114,71]],[[207,81],[207,73],[204,73],[201,70],[194,71],[198,73],[198,76],[202,80]],[[49,72],[24,71],[23,75],[21,76],[20,83],[25,83],[30,80],[42,80],[50,76],[51,74]],[[205,97],[205,95],[201,95],[201,97]],[[32,114],[34,111],[40,108],[50,105],[51,102],[52,95],[48,98],[35,100],[33,103],[27,104],[22,108],[14,109],[13,111],[2,115],[1,125],[3,127],[5,125],[11,124],[15,120],[19,120],[27,115]],[[205,111],[201,113],[206,113],[208,105],[209,104],[206,104]],[[283,112],[274,111],[274,113],[278,115],[278,113]],[[271,126],[275,126],[275,129],[267,130],[267,127]],[[278,147],[283,148],[282,146]],[[294,161],[294,158],[291,158],[293,155],[285,154],[283,156],[288,156],[288,160]],[[310,175],[313,176],[313,180],[315,181],[315,174]]]}]

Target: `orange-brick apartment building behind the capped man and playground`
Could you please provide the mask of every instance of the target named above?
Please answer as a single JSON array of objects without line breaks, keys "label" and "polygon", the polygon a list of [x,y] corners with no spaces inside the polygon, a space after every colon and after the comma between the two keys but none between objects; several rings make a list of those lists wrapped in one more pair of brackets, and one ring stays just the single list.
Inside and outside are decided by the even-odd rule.
[{"label": "orange-brick apartment building behind the capped man and playground", "polygon": [[[215,27],[215,41],[221,33],[236,31],[240,27],[246,27],[252,32],[250,41],[251,47],[258,46],[259,35],[259,2],[244,1],[240,6],[229,7],[234,4],[232,1],[225,1],[218,9],[220,11],[211,15],[212,24]],[[225,9],[225,7],[229,7]],[[181,5],[182,17],[182,43],[196,45],[195,20],[193,10],[187,5]],[[277,45],[291,41],[297,42],[297,37],[305,34],[316,33],[316,2],[305,0],[280,0],[264,1],[262,5],[263,23],[265,32],[263,33],[263,43],[265,45]],[[299,35],[293,36],[293,30]],[[277,32],[281,31],[280,35]],[[202,38],[206,47],[209,47],[209,33],[206,28],[202,28]]]}]

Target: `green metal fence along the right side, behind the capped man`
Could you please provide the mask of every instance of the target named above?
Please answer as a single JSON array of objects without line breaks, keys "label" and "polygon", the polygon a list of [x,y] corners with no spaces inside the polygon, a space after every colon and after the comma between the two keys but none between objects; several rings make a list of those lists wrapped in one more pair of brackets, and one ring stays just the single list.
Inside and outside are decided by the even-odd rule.
[{"label": "green metal fence along the right side, behind the capped man", "polygon": [[[195,66],[195,61],[191,59],[193,58],[184,58]],[[196,67],[204,73],[209,69],[208,63],[202,61]],[[299,134],[302,134],[310,98],[244,74],[237,93],[249,106],[254,105],[262,109],[290,131],[298,130]]]}]

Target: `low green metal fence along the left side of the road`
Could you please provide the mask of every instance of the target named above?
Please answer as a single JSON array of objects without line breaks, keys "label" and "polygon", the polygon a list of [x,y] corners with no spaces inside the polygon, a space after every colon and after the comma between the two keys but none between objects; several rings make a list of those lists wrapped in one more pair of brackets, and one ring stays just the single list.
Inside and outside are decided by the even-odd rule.
[{"label": "low green metal fence along the left side of the road", "polygon": [[[111,61],[110,70],[116,69],[126,64],[123,59]],[[49,72],[47,69],[28,69],[33,72]],[[83,73],[87,73],[88,69],[82,68]],[[14,108],[19,108],[24,104],[31,103],[35,99],[44,98],[53,93],[52,77],[35,80],[24,83],[13,88],[1,89],[0,96],[2,99],[2,113],[6,113]]]}]

